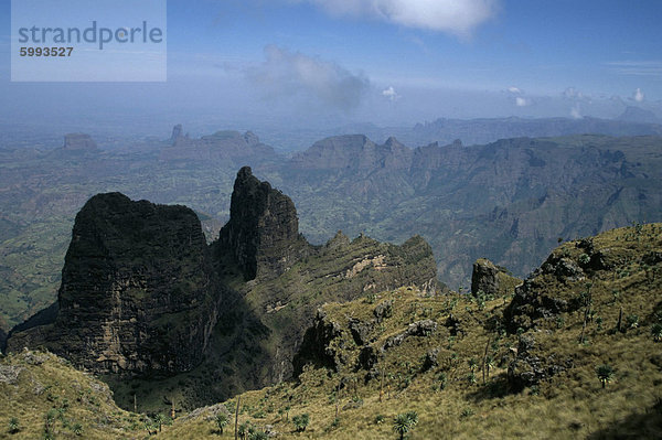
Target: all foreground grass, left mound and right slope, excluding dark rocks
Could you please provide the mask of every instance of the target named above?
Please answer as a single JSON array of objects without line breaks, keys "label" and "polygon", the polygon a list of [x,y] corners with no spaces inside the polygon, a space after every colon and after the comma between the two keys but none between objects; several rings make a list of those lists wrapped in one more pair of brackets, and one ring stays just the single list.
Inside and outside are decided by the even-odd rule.
[{"label": "all foreground grass, left mound and right slope, excluding dark rocks", "polygon": [[[415,289],[385,291],[377,298],[366,297],[349,303],[328,303],[328,322],[335,322],[340,336],[331,346],[344,356],[339,372],[307,369],[299,383],[277,386],[241,395],[239,422],[252,421],[259,427],[271,426],[279,438],[329,439],[395,439],[393,418],[415,410],[419,422],[412,439],[437,438],[660,438],[662,434],[662,354],[653,341],[652,325],[662,313],[662,262],[649,265],[642,256],[662,254],[662,224],[641,228],[615,229],[594,239],[596,250],[609,255],[613,270],[597,271],[588,279],[568,281],[538,279],[545,292],[559,298],[576,298],[592,282],[595,315],[588,323],[586,342],[578,342],[584,314],[563,313],[537,321],[524,336],[535,339],[532,354],[548,358],[570,359],[573,367],[540,386],[520,394],[508,394],[506,366],[517,345],[517,334],[505,334],[494,325],[503,315],[510,297],[488,300],[484,307],[470,297],[457,294],[424,297]],[[555,253],[578,259],[581,249],[566,243]],[[545,276],[547,277],[547,276]],[[353,361],[359,347],[348,329],[349,318],[370,321],[374,308],[393,300],[393,314],[370,333],[372,345],[382,346],[389,337],[405,331],[409,323],[430,319],[437,330],[428,336],[410,336],[399,346],[387,350],[376,371],[385,372],[383,401],[380,401],[380,379],[364,382],[366,372],[355,371]],[[623,315],[639,316],[638,325],[615,331],[620,309]],[[459,321],[463,331],[452,337],[446,325],[449,315]],[[600,320],[598,320],[600,318]],[[485,345],[494,367],[487,384],[480,371]],[[423,358],[430,348],[438,348],[438,366],[421,372]],[[42,358],[40,362],[29,358]],[[78,373],[55,356],[24,353],[0,361],[0,438],[38,438],[43,434],[45,414],[62,408],[68,425],[83,425],[84,438],[146,438],[139,416],[114,406],[105,386]],[[470,359],[478,364],[476,383],[470,379]],[[605,388],[595,368],[601,364],[615,368],[611,383]],[[8,384],[9,369],[24,368],[18,384]],[[8,369],[9,368],[9,369]],[[445,374],[445,383],[440,380]],[[338,393],[339,384],[341,386]],[[35,393],[40,387],[51,386]],[[339,421],[334,423],[335,403]],[[222,407],[229,409],[236,398]],[[220,434],[213,414],[222,407],[196,410],[179,417],[172,426],[150,438],[233,438],[232,422]],[[291,419],[310,415],[310,425],[302,433],[295,432]],[[384,421],[377,423],[377,416]],[[10,417],[19,418],[22,431],[9,434]],[[71,428],[57,419],[57,438],[74,438]],[[132,430],[134,429],[134,430]]]}]

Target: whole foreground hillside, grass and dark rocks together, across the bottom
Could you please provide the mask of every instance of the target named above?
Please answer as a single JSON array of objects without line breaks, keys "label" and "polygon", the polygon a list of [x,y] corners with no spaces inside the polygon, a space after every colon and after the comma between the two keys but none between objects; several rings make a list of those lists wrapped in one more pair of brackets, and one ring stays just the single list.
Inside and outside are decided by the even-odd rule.
[{"label": "whole foreground hillside, grass and dark rocks together, across the bottom", "polygon": [[[563,244],[514,296],[399,288],[328,302],[299,351],[307,362],[298,380],[188,415],[174,399],[174,422],[150,438],[234,438],[237,399],[239,432],[254,432],[246,438],[267,430],[276,438],[396,439],[394,419],[406,412],[416,414],[414,426],[401,418],[412,439],[659,438],[661,276],[662,224],[649,224]],[[73,436],[66,426],[74,420],[85,438],[147,434],[138,421],[145,416],[114,409],[103,385],[54,356],[19,353],[1,359],[0,372],[4,407],[18,408],[0,416],[4,427],[17,417],[21,432],[40,433],[44,414],[64,407],[60,391],[35,395],[36,380],[79,390],[65,396],[54,422],[62,438]],[[90,397],[96,389],[103,393]],[[90,422],[97,408],[104,421]],[[170,409],[163,401],[154,414]],[[228,420],[223,433],[217,415]],[[308,425],[297,432],[301,415]]]}]

